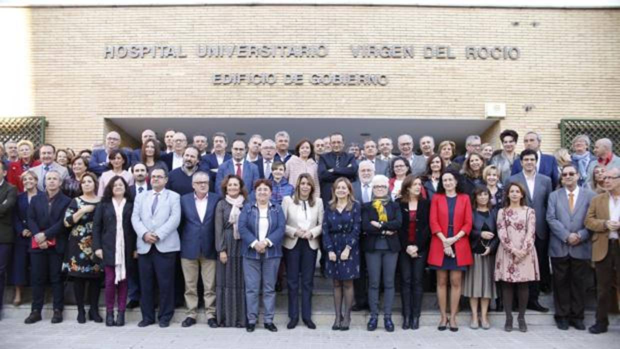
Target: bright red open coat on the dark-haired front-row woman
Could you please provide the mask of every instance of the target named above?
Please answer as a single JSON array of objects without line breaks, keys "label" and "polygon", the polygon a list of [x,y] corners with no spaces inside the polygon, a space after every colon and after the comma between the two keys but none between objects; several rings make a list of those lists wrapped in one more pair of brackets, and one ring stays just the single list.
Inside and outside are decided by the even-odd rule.
[{"label": "bright red open coat on the dark-haired front-row woman", "polygon": [[[447,236],[448,232],[448,200],[445,194],[436,193],[430,203],[430,231],[432,234],[430,241],[430,249],[428,250],[428,264],[441,267],[443,264],[443,244],[437,236],[438,232],[442,232]],[[464,231],[465,236],[454,243],[454,252],[456,253],[456,265],[465,266],[474,263],[471,255],[471,247],[469,246],[469,232],[472,226],[472,212],[469,195],[458,194],[456,197],[456,206],[454,206],[453,231],[454,235],[459,231]]]}]

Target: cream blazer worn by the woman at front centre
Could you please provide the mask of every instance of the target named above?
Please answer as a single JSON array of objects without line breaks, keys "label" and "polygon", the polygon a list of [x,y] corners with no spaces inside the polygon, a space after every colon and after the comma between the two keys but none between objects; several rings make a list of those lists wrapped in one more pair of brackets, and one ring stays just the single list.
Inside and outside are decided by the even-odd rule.
[{"label": "cream blazer worn by the woman at front centre", "polygon": [[[310,207],[310,205],[307,205],[306,208],[310,223],[308,230],[312,233],[312,239],[309,239],[308,243],[311,249],[316,250],[321,244],[319,236],[321,236],[323,229],[323,201],[321,198],[316,198],[314,199],[314,206]],[[282,210],[286,217],[286,231],[282,246],[285,249],[293,249],[297,244],[297,239],[299,239],[299,237],[295,236],[295,232],[301,228],[300,224],[303,224],[305,221],[303,204],[300,201],[299,205],[295,205],[293,198],[285,197],[282,200]]]}]

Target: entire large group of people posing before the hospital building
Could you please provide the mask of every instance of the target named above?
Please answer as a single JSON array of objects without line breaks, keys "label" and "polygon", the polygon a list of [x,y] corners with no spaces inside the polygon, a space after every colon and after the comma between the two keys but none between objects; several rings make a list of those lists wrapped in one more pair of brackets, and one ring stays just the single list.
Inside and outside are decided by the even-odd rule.
[{"label": "entire large group of people posing before the hospital building", "polygon": [[116,131],[104,146],[80,152],[7,141],[0,147],[0,299],[6,283],[15,286],[16,305],[32,286],[25,323],[33,324],[51,284],[51,322],[58,323],[70,280],[80,324],[123,326],[126,309],[139,306],[139,327],[167,327],[185,304],[182,327],[190,327],[203,303],[209,327],[248,332],[262,303],[263,326],[275,332],[275,298],[285,283],[286,327],[301,315],[315,329],[318,261],[333,280],[332,330],[348,330],[352,311],[368,309],[366,329],[376,330],[382,313],[393,332],[396,291],[402,329],[418,329],[425,270],[436,275],[440,331],[458,331],[464,296],[472,329],[491,327],[495,302],[505,312],[503,329],[513,330],[516,309],[516,328],[525,332],[526,309],[549,311],[541,292],[553,293],[559,329],[584,330],[594,274],[589,330],[606,332],[620,283],[620,157],[606,138],[590,152],[590,138],[580,135],[572,152],[554,155],[541,152],[534,131],[516,152],[518,138],[504,130],[494,150],[471,135],[459,156],[453,141],[435,146],[432,136],[415,151],[410,135],[397,138],[397,152],[389,137],[346,148],[333,133],[301,139],[294,154],[286,131],[247,143],[216,132],[211,149],[206,135],[188,144],[175,130],[161,143],[144,130],[137,149],[122,148]]}]

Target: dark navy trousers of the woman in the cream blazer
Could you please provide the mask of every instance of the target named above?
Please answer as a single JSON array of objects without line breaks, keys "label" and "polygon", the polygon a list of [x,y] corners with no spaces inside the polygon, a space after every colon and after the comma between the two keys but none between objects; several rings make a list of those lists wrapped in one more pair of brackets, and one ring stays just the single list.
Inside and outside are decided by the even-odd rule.
[{"label": "dark navy trousers of the woman in the cream blazer", "polygon": [[301,277],[301,319],[312,319],[312,286],[317,250],[306,239],[298,239],[293,249],[282,248],[286,262],[288,317],[299,319],[299,278]]}]

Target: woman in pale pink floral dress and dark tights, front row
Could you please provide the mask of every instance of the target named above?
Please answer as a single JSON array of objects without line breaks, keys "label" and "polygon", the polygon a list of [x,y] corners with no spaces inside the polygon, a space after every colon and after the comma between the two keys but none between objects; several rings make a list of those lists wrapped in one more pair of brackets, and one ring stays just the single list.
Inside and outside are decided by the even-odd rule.
[{"label": "woman in pale pink floral dress and dark tights, front row", "polygon": [[525,205],[525,188],[510,183],[505,191],[505,207],[497,213],[497,234],[500,246],[495,256],[495,280],[503,281],[502,298],[506,323],[504,329],[512,330],[512,300],[514,288],[518,289],[519,330],[526,332],[525,307],[528,304],[528,282],[539,280],[538,257],[534,249],[536,214]]}]

